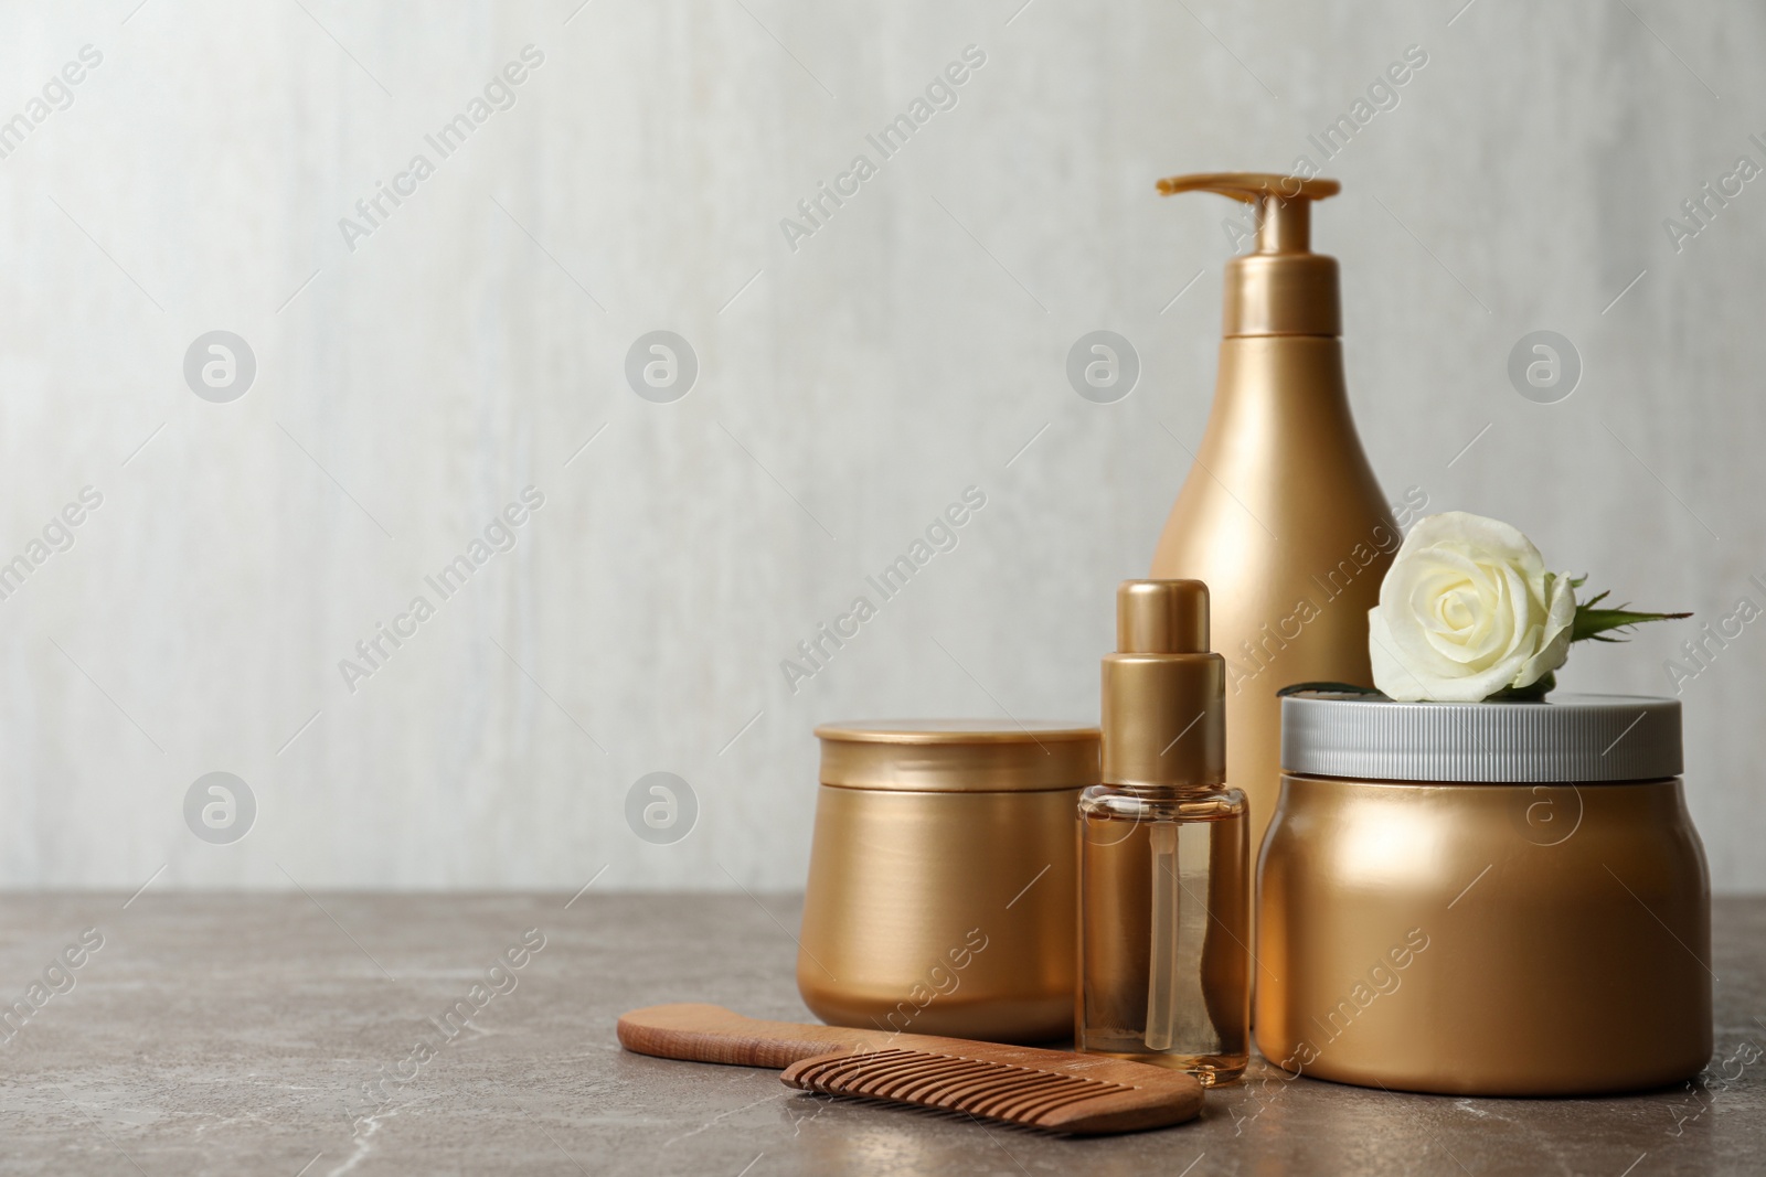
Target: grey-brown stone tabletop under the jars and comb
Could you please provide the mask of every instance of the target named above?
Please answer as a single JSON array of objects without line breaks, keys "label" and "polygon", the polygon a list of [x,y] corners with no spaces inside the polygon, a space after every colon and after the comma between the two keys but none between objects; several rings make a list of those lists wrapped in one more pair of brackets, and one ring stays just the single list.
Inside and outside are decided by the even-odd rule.
[{"label": "grey-brown stone tabletop under the jars and comb", "polygon": [[0,1001],[32,1011],[0,1025],[0,1173],[1766,1172],[1766,900],[1717,905],[1699,1083],[1453,1099],[1257,1061],[1197,1122],[1072,1140],[618,1048],[664,1001],[807,1020],[795,898],[125,898],[0,896]]}]

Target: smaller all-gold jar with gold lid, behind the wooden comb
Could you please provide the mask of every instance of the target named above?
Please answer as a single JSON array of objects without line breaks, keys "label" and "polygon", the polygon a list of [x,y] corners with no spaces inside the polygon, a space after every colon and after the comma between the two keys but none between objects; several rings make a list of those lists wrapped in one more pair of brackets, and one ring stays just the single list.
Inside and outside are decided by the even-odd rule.
[{"label": "smaller all-gold jar with gold lid, behind the wooden comb", "polygon": [[1079,723],[825,723],[796,986],[834,1025],[1000,1043],[1074,1031]]}]

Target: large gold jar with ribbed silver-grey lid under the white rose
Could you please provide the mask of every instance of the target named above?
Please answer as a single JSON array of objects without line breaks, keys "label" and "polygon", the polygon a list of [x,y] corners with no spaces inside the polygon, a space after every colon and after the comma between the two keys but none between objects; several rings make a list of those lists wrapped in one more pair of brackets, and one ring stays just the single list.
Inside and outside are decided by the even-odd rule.
[{"label": "large gold jar with ribbed silver-grey lid under the white rose", "polygon": [[1344,1083],[1657,1087],[1711,1057],[1679,704],[1282,701],[1257,1046]]}]

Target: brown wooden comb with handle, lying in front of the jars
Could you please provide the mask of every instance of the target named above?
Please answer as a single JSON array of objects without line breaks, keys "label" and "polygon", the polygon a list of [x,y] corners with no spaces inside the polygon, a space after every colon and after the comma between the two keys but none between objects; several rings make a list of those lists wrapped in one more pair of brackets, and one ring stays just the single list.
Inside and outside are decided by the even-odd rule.
[{"label": "brown wooden comb with handle, lying in front of the jars", "polygon": [[722,1006],[648,1006],[620,1018],[641,1055],[784,1068],[788,1087],[1102,1135],[1166,1128],[1203,1108],[1183,1071],[1098,1055],[839,1025],[759,1022]]}]

